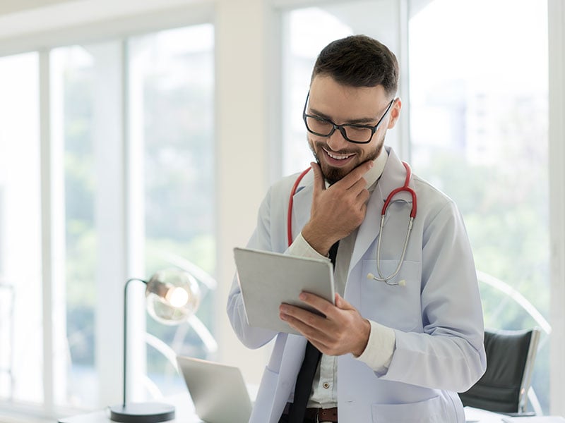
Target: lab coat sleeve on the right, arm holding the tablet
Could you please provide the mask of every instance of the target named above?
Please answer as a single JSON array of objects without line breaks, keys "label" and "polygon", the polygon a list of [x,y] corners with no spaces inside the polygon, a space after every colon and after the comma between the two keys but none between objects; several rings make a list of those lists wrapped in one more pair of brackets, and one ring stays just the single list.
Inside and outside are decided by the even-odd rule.
[{"label": "lab coat sleeve on the right, arm holding the tablet", "polygon": [[429,219],[422,238],[423,333],[395,330],[396,349],[381,378],[462,392],[486,369],[475,264],[453,202]]}]

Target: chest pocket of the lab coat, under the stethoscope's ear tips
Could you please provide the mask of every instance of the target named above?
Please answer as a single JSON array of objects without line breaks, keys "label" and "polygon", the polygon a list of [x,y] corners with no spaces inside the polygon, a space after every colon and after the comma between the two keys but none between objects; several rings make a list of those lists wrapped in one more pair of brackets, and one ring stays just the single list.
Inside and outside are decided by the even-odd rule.
[{"label": "chest pocket of the lab coat, under the stethoscope's ear tips", "polygon": [[[392,274],[396,266],[398,260],[381,260],[381,274]],[[422,331],[421,269],[420,262],[405,260],[389,283],[363,278],[360,299],[363,316],[400,331]],[[369,273],[379,275],[376,260],[363,261],[362,275]]]}]

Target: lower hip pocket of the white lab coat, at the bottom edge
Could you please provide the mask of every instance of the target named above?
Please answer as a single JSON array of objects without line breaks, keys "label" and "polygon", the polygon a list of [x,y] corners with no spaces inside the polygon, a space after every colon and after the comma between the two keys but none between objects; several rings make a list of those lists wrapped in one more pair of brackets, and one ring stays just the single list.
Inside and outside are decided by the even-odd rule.
[{"label": "lower hip pocket of the white lab coat, at the bottom edge", "polygon": [[373,404],[373,423],[446,423],[439,396],[419,403]]}]

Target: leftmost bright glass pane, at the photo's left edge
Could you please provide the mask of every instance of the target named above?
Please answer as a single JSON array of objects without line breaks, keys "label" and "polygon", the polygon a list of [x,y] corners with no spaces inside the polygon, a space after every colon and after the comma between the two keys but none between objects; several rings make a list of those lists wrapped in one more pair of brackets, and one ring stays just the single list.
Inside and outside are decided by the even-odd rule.
[{"label": "leftmost bright glass pane, at the photo's left edge", "polygon": [[39,73],[0,58],[0,400],[43,401]]}]

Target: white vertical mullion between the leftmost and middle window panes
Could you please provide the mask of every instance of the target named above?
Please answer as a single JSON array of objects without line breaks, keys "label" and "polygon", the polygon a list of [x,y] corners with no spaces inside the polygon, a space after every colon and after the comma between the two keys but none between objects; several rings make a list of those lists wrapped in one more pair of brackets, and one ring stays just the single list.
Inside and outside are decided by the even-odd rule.
[{"label": "white vertical mullion between the leftmost and middle window panes", "polygon": [[64,140],[53,123],[61,105],[54,97],[49,50],[40,51],[40,144],[42,204],[43,403],[46,415],[66,398],[66,290]]}]

